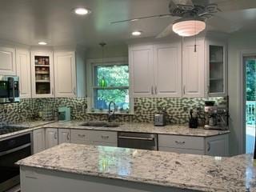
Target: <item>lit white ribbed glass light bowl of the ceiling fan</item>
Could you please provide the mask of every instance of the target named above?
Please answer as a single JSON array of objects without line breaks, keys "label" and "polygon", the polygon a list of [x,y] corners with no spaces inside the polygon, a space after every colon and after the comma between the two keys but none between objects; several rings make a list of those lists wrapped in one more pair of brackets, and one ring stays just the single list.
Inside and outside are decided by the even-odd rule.
[{"label": "lit white ribbed glass light bowl of the ceiling fan", "polygon": [[206,29],[206,22],[200,18],[182,18],[173,24],[174,33],[182,37],[190,37],[199,34]]}]

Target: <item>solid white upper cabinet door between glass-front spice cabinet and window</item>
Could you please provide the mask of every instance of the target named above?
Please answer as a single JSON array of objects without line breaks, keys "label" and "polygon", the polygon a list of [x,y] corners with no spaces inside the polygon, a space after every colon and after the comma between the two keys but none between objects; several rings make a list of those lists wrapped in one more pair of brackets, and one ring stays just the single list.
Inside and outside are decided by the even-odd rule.
[{"label": "solid white upper cabinet door between glass-front spice cabinet and window", "polygon": [[76,96],[74,52],[54,53],[54,82],[56,97]]}]

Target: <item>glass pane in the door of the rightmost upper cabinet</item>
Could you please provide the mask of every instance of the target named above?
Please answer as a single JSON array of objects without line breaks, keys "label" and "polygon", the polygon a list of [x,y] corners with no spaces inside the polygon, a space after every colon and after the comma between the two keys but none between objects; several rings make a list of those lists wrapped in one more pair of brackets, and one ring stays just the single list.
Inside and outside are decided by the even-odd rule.
[{"label": "glass pane in the door of the rightmost upper cabinet", "polygon": [[225,58],[224,46],[209,46],[209,94],[224,93]]}]

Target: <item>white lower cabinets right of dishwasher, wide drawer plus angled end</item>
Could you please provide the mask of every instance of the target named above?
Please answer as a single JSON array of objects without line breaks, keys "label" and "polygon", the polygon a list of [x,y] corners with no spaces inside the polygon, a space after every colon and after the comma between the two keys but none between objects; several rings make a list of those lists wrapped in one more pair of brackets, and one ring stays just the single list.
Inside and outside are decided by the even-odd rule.
[{"label": "white lower cabinets right of dishwasher, wide drawer plus angled end", "polygon": [[158,134],[158,150],[181,154],[229,156],[228,134],[207,138]]}]

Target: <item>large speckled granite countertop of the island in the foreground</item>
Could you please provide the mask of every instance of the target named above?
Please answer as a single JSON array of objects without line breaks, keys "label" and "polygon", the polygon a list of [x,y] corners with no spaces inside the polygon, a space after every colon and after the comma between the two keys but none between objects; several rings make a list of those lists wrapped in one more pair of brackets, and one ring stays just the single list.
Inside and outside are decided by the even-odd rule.
[{"label": "large speckled granite countertop of the island in the foreground", "polygon": [[190,190],[256,191],[251,154],[220,158],[63,143],[17,164]]}]

